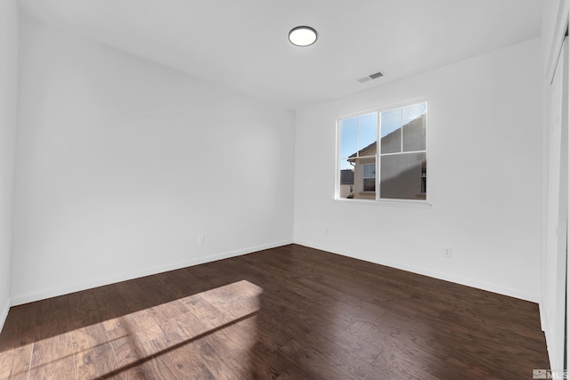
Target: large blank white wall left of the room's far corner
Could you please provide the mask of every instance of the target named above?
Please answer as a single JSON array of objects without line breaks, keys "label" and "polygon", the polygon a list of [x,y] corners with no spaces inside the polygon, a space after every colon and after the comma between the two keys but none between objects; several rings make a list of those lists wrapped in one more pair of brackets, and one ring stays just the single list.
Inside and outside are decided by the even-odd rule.
[{"label": "large blank white wall left of the room's far corner", "polygon": [[292,241],[291,111],[20,25],[13,303]]}]

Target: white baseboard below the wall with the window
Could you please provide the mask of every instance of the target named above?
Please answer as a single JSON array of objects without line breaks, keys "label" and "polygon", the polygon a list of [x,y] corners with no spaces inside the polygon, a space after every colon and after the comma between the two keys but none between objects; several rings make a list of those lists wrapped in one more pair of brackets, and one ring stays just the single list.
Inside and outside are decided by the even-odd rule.
[{"label": "white baseboard below the wall with the window", "polygon": [[413,265],[403,265],[401,263],[390,263],[387,261],[379,260],[377,257],[370,257],[366,255],[348,255],[346,252],[340,252],[338,249],[334,247],[323,247],[320,245],[314,245],[311,243],[307,243],[304,241],[296,240],[295,244],[300,246],[310,247],[314,249],[320,249],[322,251],[331,252],[337,255],[343,255],[347,257],[353,257],[354,259],[363,260],[369,263],[377,263],[380,265],[385,265],[390,268],[399,269],[402,271],[410,271],[412,273],[420,274],[423,276],[428,276],[434,279],[443,279],[444,281],[453,282],[455,284],[464,285],[466,287],[476,287],[477,289],[485,290],[488,292],[496,293],[499,295],[507,295],[509,297],[518,298],[524,301],[529,301],[533,303],[538,303],[540,299],[540,295],[529,294],[525,292],[521,292],[517,289],[512,289],[509,287],[501,287],[497,286],[496,284],[487,283],[483,281],[477,281],[476,279],[465,279],[463,277],[455,277],[450,275],[449,273],[441,273],[436,271],[426,271],[424,268],[414,267]]}]

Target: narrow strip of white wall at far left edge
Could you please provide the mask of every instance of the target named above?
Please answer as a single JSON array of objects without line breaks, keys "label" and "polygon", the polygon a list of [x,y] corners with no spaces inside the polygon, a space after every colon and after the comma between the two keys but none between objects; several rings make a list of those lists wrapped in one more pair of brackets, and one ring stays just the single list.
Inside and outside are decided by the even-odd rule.
[{"label": "narrow strip of white wall at far left edge", "polygon": [[16,3],[14,0],[0,0],[0,329],[10,305],[17,63]]}]

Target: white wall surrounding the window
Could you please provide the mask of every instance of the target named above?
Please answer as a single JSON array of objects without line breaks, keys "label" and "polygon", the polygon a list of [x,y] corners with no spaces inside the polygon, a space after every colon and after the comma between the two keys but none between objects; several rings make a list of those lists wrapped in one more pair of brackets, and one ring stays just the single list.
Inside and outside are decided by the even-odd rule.
[{"label": "white wall surrounding the window", "polygon": [[[295,241],[538,301],[541,65],[536,39],[298,111]],[[337,117],[424,96],[432,206],[334,201]]]}]

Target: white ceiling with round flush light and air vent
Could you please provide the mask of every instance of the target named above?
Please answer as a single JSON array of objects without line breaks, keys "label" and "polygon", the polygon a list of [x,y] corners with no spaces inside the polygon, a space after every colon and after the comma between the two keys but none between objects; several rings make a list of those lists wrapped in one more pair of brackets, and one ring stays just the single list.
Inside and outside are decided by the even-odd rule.
[{"label": "white ceiling with round flush light and air vent", "polygon": [[[289,109],[541,34],[543,0],[20,0],[38,18]],[[319,32],[309,47],[290,28]],[[360,84],[377,71],[386,77]]]}]

